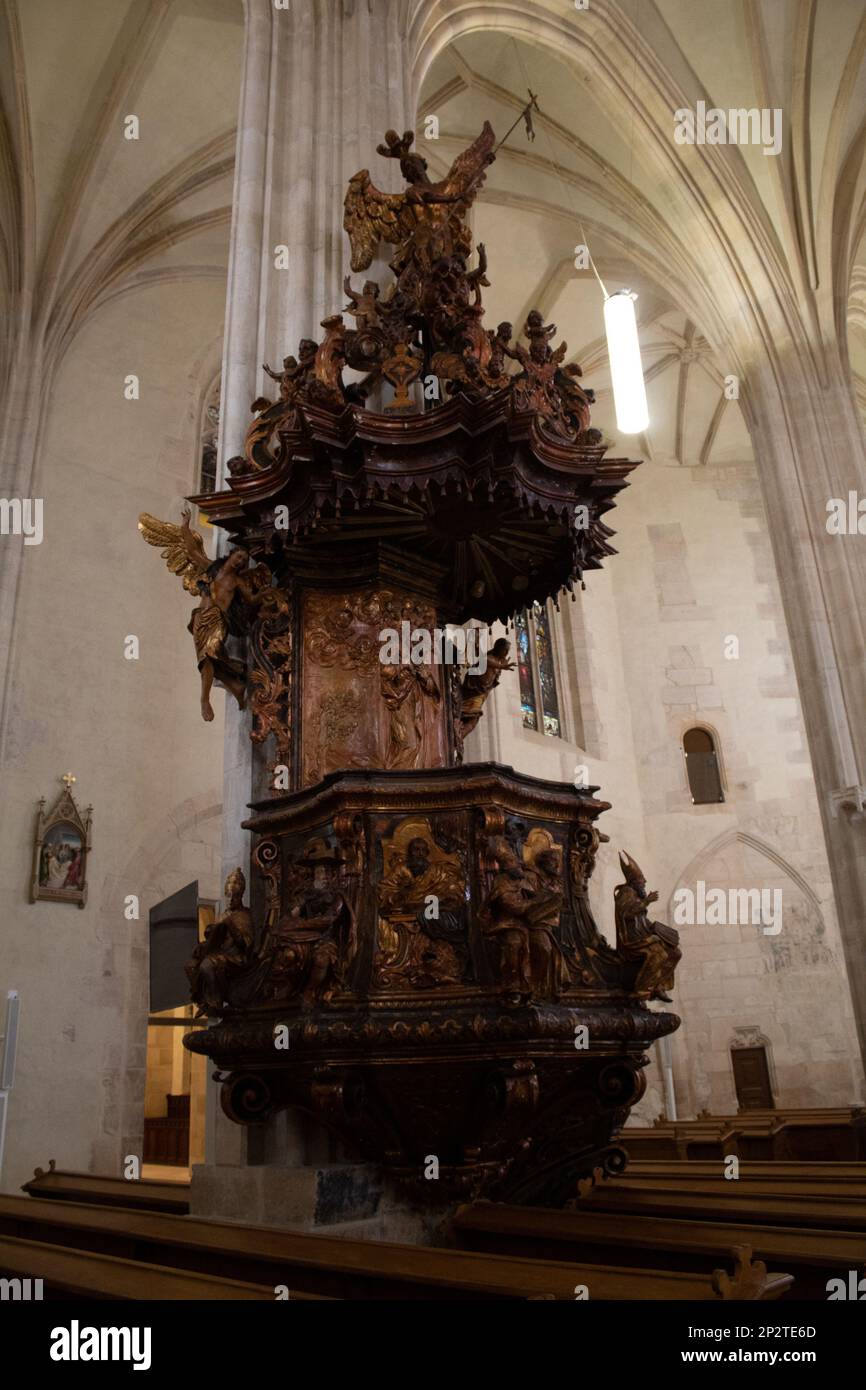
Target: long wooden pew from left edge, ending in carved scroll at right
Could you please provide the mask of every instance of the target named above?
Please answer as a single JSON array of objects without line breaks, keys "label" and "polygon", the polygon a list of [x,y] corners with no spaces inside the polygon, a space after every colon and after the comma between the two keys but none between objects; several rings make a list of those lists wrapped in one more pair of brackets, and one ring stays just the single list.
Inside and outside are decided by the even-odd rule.
[{"label": "long wooden pew from left edge, ending in carved scroll at right", "polygon": [[[788,1273],[767,1275],[748,1251],[734,1252],[733,1243],[730,1258],[713,1270],[646,1270],[627,1261],[596,1265],[342,1240],[32,1197],[0,1197],[0,1236],[353,1300],[573,1300],[580,1286],[601,1300],[774,1300],[792,1283]],[[39,1265],[31,1264],[29,1273],[39,1277]]]}]

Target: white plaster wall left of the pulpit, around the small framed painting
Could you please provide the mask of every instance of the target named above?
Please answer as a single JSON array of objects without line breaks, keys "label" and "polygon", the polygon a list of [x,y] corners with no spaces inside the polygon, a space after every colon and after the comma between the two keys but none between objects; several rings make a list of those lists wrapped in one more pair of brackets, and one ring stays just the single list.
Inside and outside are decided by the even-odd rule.
[{"label": "white plaster wall left of the pulpit, around the small framed painting", "polygon": [[[22,999],[6,1188],[49,1158],[115,1173],[140,1152],[147,909],[193,878],[203,897],[221,892],[224,696],[204,726],[185,631],[193,600],[136,530],[142,510],[177,520],[195,489],[220,289],[197,281],[110,303],[47,406],[44,541],[24,550],[0,819],[0,987]],[[124,399],[129,371],[138,402]],[[124,657],[129,634],[139,660]],[[79,805],[93,805],[82,910],[28,901],[36,801],[53,801],[67,770]],[[138,922],[124,916],[128,894]]]}]

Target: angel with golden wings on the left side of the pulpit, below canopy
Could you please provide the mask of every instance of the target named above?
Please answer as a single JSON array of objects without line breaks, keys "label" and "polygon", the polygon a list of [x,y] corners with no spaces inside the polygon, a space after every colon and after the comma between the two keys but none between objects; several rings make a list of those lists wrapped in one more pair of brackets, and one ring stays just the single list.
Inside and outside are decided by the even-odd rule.
[{"label": "angel with golden wings on the left side of the pulpit, below canopy", "polygon": [[264,603],[281,605],[285,595],[270,587],[271,573],[267,566],[249,569],[245,550],[229,550],[217,560],[209,560],[204,542],[192,530],[189,517],[186,509],[182,524],[174,525],[143,512],[139,531],[147,545],[163,546],[163,559],[171,573],[182,578],[186,592],[200,596],[188,630],[196,645],[202,674],[202,719],[210,721],[214,717],[210,703],[214,681],[235,696],[240,709],[246,701],[246,666],[227,652],[229,635],[242,630],[238,609],[245,603],[254,607]]}]

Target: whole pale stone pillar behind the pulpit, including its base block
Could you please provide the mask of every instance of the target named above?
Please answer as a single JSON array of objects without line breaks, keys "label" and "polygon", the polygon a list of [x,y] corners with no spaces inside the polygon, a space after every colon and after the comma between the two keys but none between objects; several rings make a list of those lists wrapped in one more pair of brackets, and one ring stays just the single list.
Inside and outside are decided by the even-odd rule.
[{"label": "whole pale stone pillar behind the pulpit, including its base block", "polygon": [[[321,320],[342,309],[349,243],[342,229],[349,178],[370,167],[386,129],[414,126],[406,36],[407,0],[245,0],[246,36],[234,215],[228,264],[220,418],[220,486],[225,461],[242,452],[250,402],[274,385],[277,366],[300,338],[321,338]],[[373,158],[371,158],[373,156]],[[377,160],[384,192],[402,186],[395,161]],[[279,257],[279,247],[288,254]],[[278,268],[279,259],[286,268]],[[240,830],[253,794],[249,714],[227,701],[225,873],[249,865]],[[249,874],[247,874],[249,881]],[[314,1225],[367,1218],[371,1184],[353,1169],[359,1201],[322,1201],[329,1190],[321,1137],[282,1116],[272,1133],[243,1131],[220,1111],[210,1083],[207,1163],[193,1170],[193,1211],[249,1220]],[[339,1183],[343,1191],[345,1182]],[[270,1195],[268,1195],[270,1194]],[[277,1201],[277,1194],[279,1200]],[[318,1195],[316,1195],[318,1194]],[[381,1233],[381,1232],[377,1232]]]}]

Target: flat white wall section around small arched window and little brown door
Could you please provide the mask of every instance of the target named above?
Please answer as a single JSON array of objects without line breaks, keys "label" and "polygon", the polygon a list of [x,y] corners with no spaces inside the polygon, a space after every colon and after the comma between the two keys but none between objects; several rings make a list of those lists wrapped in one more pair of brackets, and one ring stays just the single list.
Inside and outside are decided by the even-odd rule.
[{"label": "flat white wall section around small arched window and little brown door", "polygon": [[[752,926],[681,927],[678,1102],[685,1113],[735,1109],[730,1041],[756,1026],[778,1105],[849,1104],[863,1094],[856,1033],[755,464],[645,464],[617,512],[645,867],[660,915],[673,920],[674,888],[694,891],[698,878],[783,895],[773,938]],[[685,602],[671,602],[671,564]],[[730,637],[737,659],[724,655]],[[717,734],[723,803],[691,805],[681,737],[694,723]],[[723,837],[727,855],[713,848]]]}]

